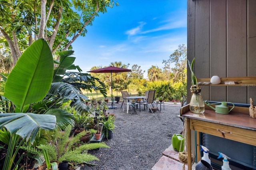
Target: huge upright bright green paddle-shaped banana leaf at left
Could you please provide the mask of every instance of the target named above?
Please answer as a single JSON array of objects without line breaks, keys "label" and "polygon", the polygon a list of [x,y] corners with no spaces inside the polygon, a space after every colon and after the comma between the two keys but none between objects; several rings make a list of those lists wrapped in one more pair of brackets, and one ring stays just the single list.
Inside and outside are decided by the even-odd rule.
[{"label": "huge upright bright green paddle-shaped banana leaf at left", "polygon": [[26,49],[8,76],[4,96],[23,112],[24,107],[42,100],[51,85],[53,58],[48,43],[38,39]]}]

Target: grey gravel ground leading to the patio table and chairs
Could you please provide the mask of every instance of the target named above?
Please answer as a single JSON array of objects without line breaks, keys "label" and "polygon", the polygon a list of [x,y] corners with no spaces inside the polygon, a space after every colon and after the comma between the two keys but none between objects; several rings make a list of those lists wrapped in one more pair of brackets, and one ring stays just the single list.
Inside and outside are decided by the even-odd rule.
[{"label": "grey gravel ground leading to the patio table and chairs", "polygon": [[131,115],[126,113],[126,105],[123,112],[121,104],[108,109],[116,115],[114,137],[105,140],[110,148],[89,151],[100,160],[90,162],[97,166],[84,165],[80,170],[150,170],[172,144],[172,135],[183,129],[182,121],[176,117],[180,105],[166,103],[161,112],[137,110],[138,114]]}]

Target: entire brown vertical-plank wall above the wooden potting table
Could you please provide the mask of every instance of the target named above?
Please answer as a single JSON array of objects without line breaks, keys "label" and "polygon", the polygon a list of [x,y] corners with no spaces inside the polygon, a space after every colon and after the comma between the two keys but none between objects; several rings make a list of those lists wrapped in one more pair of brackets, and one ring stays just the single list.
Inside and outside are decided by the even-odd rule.
[{"label": "entire brown vertical-plank wall above the wooden potting table", "polygon": [[[256,0],[188,0],[188,60],[194,57],[197,78],[256,76]],[[188,101],[190,82],[188,71]],[[204,100],[256,101],[256,84],[201,88]]]}]

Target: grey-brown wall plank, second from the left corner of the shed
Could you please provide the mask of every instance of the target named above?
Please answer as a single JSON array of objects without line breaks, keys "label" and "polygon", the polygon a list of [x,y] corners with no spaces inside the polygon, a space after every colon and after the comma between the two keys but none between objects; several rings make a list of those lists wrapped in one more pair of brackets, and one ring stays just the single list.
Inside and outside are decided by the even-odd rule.
[{"label": "grey-brown wall plank, second from the left corner of the shed", "polygon": [[[209,78],[209,29],[210,29],[210,0],[196,1],[196,61],[195,75],[196,77]],[[209,86],[203,86],[202,98],[209,99]]]}]

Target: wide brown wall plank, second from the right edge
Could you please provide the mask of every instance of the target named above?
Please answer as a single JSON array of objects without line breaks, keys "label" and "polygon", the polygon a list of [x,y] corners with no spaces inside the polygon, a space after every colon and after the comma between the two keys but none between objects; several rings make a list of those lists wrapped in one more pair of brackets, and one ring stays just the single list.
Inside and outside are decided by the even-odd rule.
[{"label": "wide brown wall plank, second from the right edge", "polygon": [[[227,77],[247,76],[246,0],[227,1]],[[246,87],[227,87],[227,101],[246,103]]]}]

